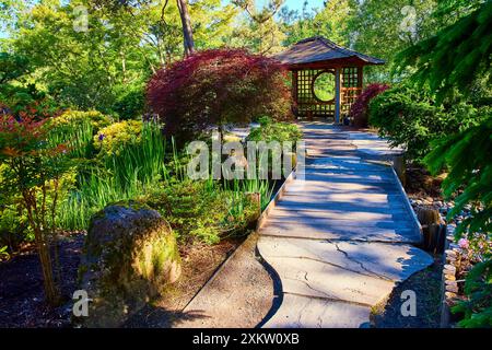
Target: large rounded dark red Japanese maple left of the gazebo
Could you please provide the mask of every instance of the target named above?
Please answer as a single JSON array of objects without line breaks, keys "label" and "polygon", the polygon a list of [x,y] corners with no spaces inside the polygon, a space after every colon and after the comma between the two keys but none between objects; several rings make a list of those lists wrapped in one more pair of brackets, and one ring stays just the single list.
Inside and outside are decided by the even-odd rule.
[{"label": "large rounded dark red Japanese maple left of the gazebo", "polygon": [[261,115],[289,118],[286,71],[273,59],[238,49],[206,50],[161,69],[147,86],[152,110],[180,142],[206,128]]}]

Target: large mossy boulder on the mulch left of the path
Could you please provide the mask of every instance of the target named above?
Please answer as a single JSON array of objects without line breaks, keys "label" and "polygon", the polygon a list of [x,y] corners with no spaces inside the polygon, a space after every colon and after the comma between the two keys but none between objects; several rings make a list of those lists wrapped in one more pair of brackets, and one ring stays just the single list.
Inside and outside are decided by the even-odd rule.
[{"label": "large mossy boulder on the mulch left of the path", "polygon": [[83,327],[118,327],[180,275],[180,258],[168,223],[155,210],[119,202],[90,224],[79,278],[87,292]]}]

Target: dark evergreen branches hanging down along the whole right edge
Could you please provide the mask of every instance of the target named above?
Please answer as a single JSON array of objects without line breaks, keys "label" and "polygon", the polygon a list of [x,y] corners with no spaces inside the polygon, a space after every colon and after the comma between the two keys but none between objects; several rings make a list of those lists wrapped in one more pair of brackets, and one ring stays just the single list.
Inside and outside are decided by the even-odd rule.
[{"label": "dark evergreen branches hanging down along the whole right edge", "polygon": [[[492,232],[492,2],[447,0],[442,4],[437,16],[459,12],[464,16],[452,20],[452,24],[435,36],[402,51],[397,68],[402,71],[412,66],[412,81],[420,86],[429,84],[440,104],[458,90],[479,107],[480,124],[457,133],[450,131],[447,138],[436,140],[424,162],[434,174],[443,168],[449,171],[443,182],[444,194],[449,198],[458,192],[449,218],[466,205],[472,207],[471,217],[458,225],[456,235],[459,237],[466,233],[471,241],[478,234],[484,236],[489,244]],[[484,82],[489,86],[476,89],[477,85],[482,88]],[[465,110],[461,117],[465,116],[469,118],[472,113]],[[467,275],[465,293],[468,300],[454,308],[454,312],[465,314],[460,322],[462,327],[492,326],[491,264],[490,254],[487,254],[484,260],[476,264]]]}]

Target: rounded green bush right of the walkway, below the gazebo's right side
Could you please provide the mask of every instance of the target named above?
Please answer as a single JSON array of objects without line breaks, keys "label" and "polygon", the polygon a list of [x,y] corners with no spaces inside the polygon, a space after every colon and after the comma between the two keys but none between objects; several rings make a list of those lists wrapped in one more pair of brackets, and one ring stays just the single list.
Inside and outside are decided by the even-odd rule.
[{"label": "rounded green bush right of the walkway, below the gazebo's right side", "polygon": [[465,130],[479,121],[477,110],[459,98],[436,106],[425,91],[400,85],[377,95],[370,103],[370,124],[407,156],[421,161],[431,142]]}]

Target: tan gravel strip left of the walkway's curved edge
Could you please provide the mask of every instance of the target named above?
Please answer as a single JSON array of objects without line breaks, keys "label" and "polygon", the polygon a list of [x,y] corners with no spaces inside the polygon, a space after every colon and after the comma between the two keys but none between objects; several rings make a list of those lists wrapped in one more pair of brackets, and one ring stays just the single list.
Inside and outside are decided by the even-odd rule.
[{"label": "tan gravel strip left of the walkway's curved edge", "polygon": [[219,268],[173,328],[254,328],[272,310],[274,285],[256,259],[254,233]]}]

